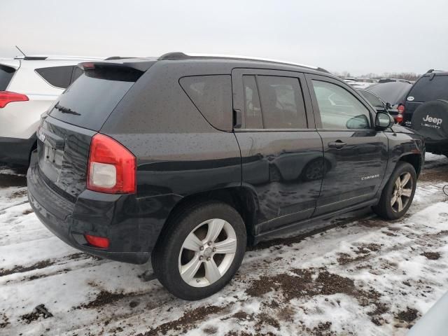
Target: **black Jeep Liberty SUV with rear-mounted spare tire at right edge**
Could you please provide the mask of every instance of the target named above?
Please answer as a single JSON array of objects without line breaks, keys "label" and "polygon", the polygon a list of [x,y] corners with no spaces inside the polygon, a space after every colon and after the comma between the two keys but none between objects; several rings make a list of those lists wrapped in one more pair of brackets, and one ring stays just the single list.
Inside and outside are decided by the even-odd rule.
[{"label": "black Jeep Liberty SUV with rear-mounted spare tire at right edge", "polygon": [[404,116],[429,152],[448,156],[448,72],[431,69],[421,76],[407,94]]}]

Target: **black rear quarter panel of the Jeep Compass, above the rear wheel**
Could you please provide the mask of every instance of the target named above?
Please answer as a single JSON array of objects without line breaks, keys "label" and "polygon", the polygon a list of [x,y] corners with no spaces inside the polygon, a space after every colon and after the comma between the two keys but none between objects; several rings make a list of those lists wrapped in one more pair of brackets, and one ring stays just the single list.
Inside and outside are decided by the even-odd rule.
[{"label": "black rear quarter panel of the Jeep Compass, above the rear wheel", "polygon": [[127,92],[100,131],[137,157],[138,207],[146,225],[153,226],[151,232],[161,230],[183,197],[241,186],[235,134],[212,127],[179,85],[182,76],[197,74],[230,75],[230,70],[157,62]]}]

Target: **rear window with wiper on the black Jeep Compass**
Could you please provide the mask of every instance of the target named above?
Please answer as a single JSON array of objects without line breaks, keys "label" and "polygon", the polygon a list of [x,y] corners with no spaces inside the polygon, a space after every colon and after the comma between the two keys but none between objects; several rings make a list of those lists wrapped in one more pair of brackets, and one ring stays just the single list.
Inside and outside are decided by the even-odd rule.
[{"label": "rear window with wiper on the black Jeep Compass", "polygon": [[99,131],[140,75],[127,69],[85,71],[59,96],[50,116]]}]

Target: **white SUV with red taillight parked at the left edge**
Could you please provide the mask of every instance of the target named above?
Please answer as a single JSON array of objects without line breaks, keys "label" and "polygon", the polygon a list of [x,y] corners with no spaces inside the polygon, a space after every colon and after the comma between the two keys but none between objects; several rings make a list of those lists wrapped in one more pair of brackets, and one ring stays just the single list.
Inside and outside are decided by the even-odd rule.
[{"label": "white SUV with red taillight parked at the left edge", "polygon": [[0,162],[29,164],[41,114],[80,76],[76,64],[89,59],[95,58],[0,59]]}]

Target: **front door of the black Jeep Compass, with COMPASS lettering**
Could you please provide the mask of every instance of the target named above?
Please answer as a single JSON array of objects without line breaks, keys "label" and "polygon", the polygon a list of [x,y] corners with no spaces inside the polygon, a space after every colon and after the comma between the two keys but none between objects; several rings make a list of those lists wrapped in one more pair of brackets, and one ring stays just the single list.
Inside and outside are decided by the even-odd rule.
[{"label": "front door of the black Jeep Compass, with COMPASS lettering", "polygon": [[387,137],[374,130],[374,110],[339,80],[307,75],[307,83],[329,165],[314,216],[374,200],[388,159]]}]

